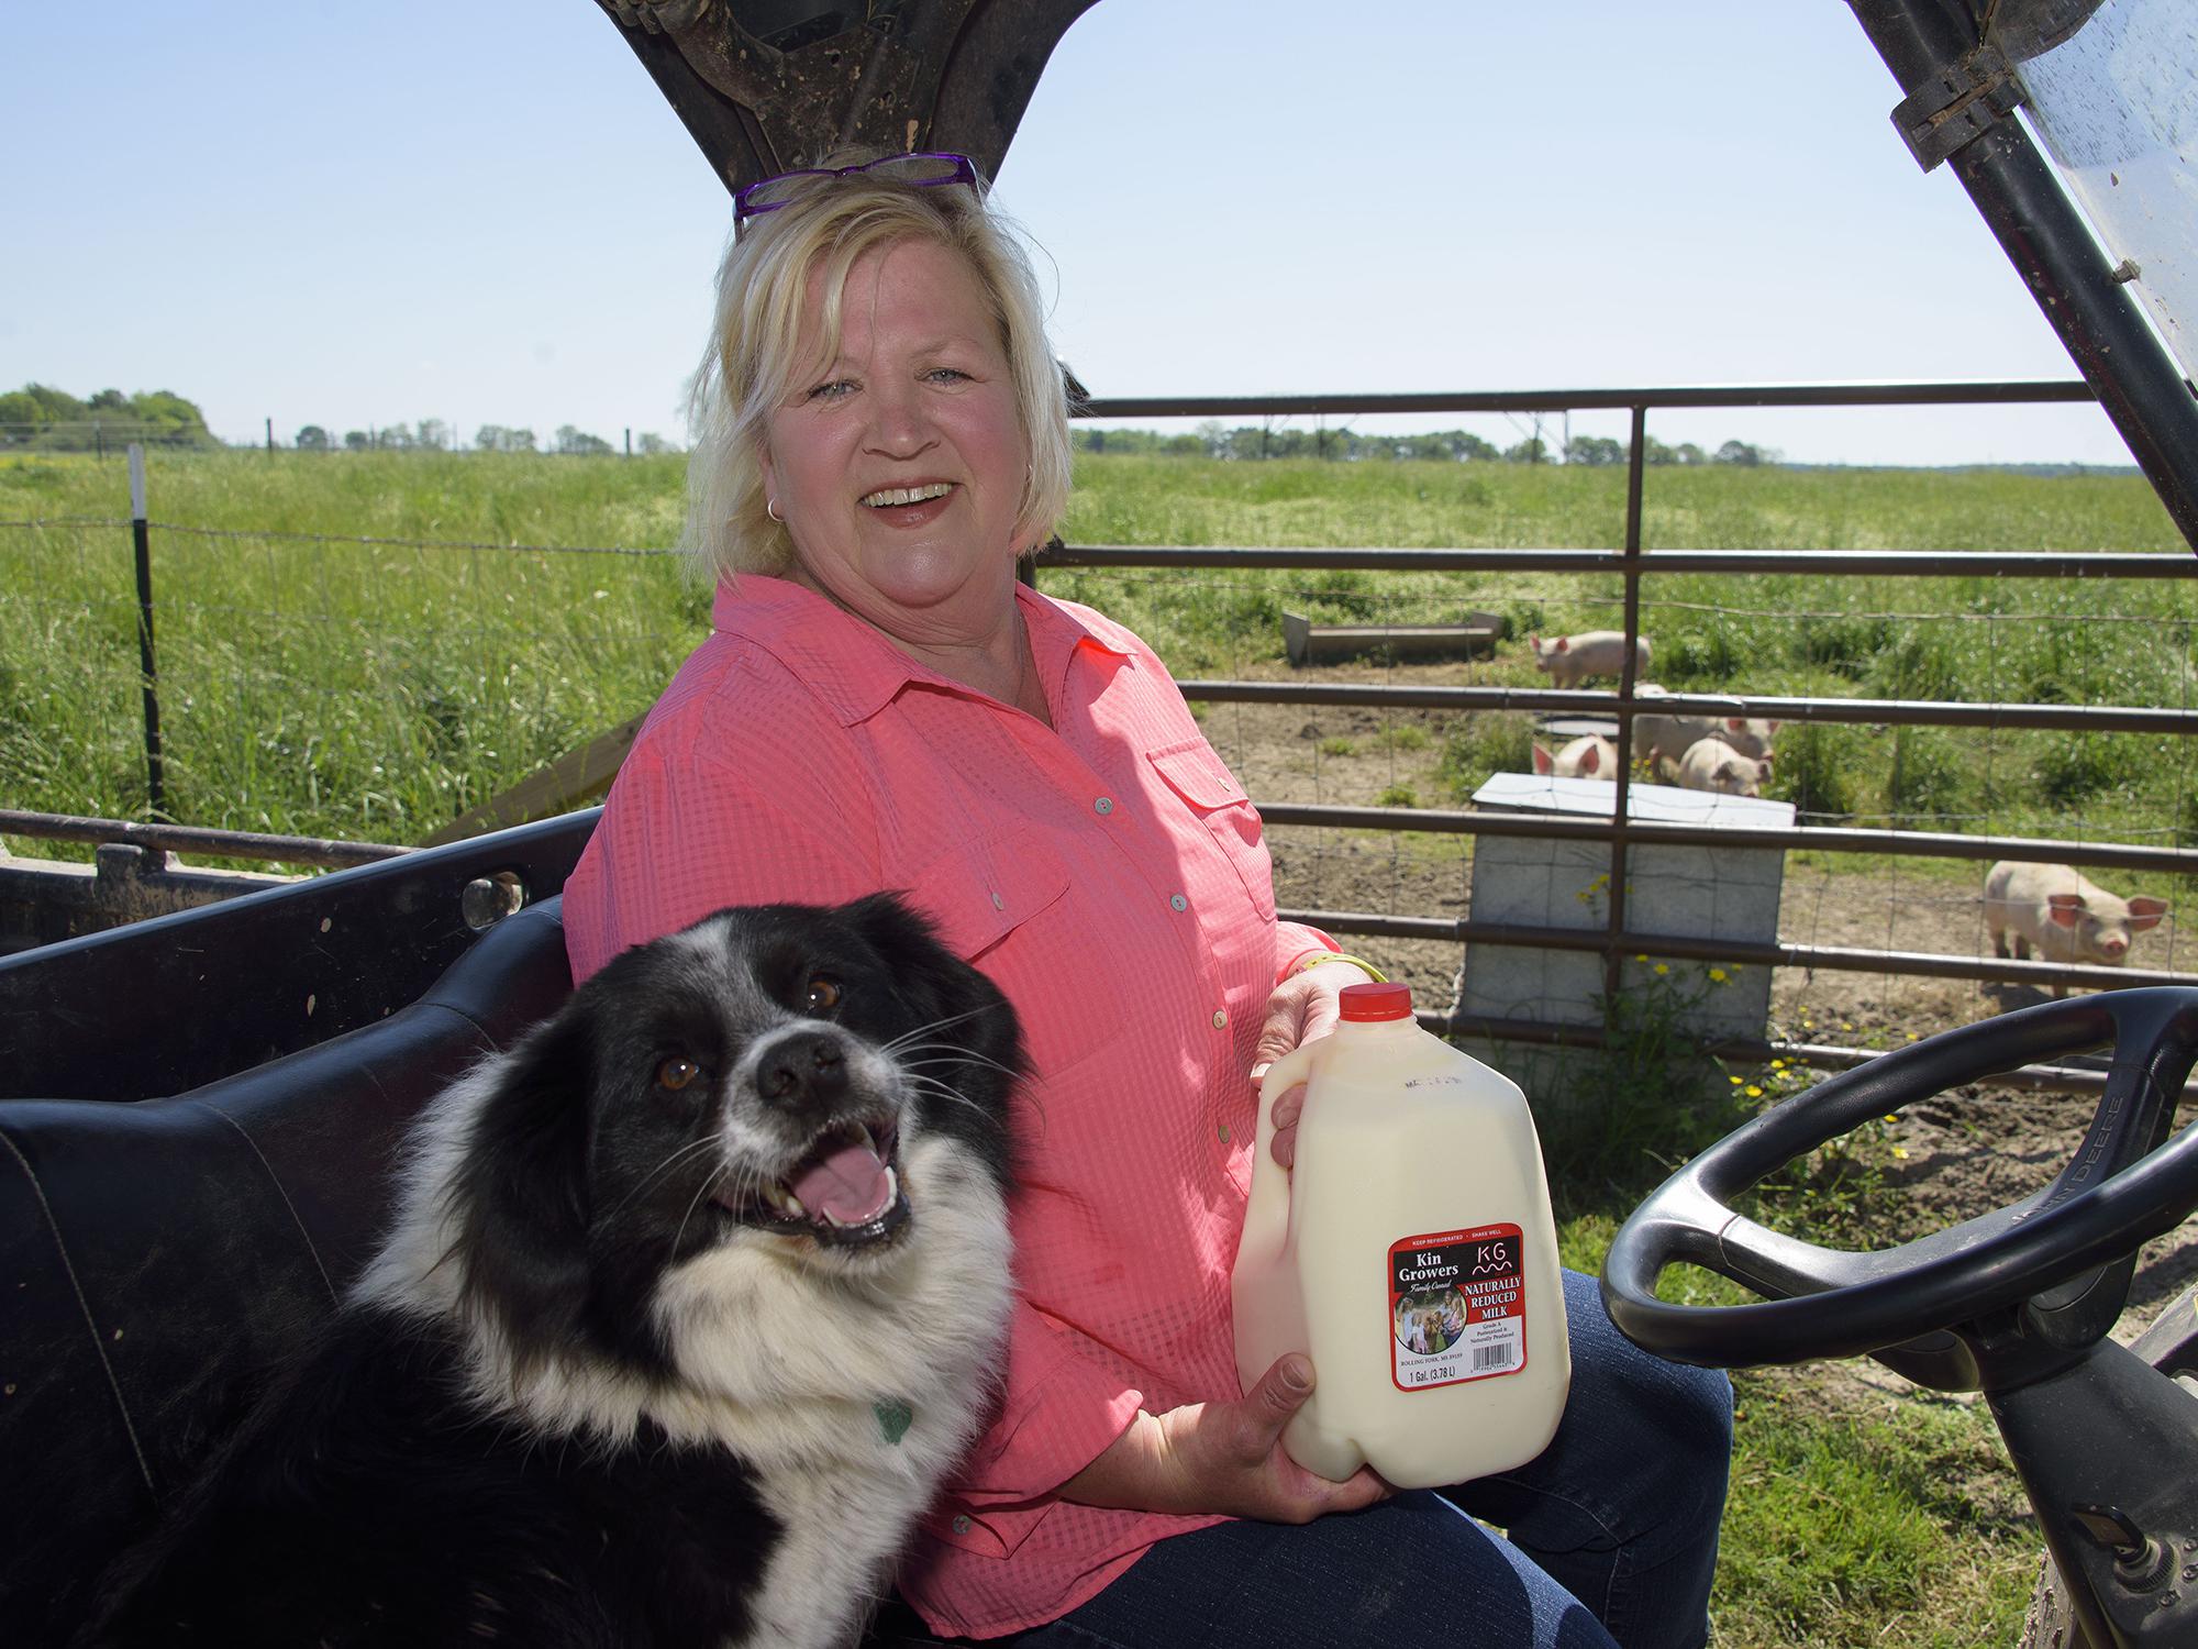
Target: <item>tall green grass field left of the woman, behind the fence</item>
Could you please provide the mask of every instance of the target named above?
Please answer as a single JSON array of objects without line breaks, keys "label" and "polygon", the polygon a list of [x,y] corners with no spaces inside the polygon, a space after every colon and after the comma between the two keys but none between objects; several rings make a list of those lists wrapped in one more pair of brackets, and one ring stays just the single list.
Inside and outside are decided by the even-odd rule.
[{"label": "tall green grass field left of the woman, behind the fence", "polygon": [[[679,475],[154,453],[154,519],[204,530],[152,547],[169,811],[409,842],[646,708],[708,605],[670,556],[609,550],[677,536]],[[119,462],[0,460],[0,519],[116,514]],[[0,794],[141,816],[127,528],[4,528],[0,565]]]}]

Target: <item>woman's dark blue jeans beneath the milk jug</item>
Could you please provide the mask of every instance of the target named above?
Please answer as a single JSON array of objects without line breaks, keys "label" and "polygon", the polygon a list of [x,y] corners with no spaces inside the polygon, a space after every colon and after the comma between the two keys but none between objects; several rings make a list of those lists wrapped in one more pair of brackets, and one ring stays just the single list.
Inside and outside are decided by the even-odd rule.
[{"label": "woman's dark blue jeans beneath the milk jug", "polygon": [[1732,1385],[1635,1350],[1611,1328],[1594,1280],[1574,1271],[1565,1315],[1572,1396],[1530,1464],[1306,1526],[1233,1521],[1176,1535],[1084,1607],[1009,1642],[1699,1649]]}]

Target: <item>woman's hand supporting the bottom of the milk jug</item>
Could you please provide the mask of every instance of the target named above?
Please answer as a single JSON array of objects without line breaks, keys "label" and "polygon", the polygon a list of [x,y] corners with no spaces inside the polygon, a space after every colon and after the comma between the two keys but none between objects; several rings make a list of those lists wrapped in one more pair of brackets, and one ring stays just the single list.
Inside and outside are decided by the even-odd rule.
[{"label": "woman's hand supporting the bottom of the milk jug", "polygon": [[1224,1513],[1266,1524],[1310,1524],[1387,1499],[1394,1491],[1372,1467],[1334,1482],[1281,1451],[1281,1429],[1308,1396],[1312,1363],[1297,1352],[1277,1357],[1233,1403],[1139,1414],[1059,1495],[1084,1506]]}]

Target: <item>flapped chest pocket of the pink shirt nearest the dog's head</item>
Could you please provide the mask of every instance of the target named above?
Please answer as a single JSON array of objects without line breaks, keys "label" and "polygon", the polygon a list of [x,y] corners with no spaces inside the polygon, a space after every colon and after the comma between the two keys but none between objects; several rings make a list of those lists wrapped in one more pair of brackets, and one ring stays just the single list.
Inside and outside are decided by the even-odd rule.
[{"label": "flapped chest pocket of the pink shirt nearest the dog's head", "polygon": [[950,849],[914,875],[910,897],[956,956],[1007,992],[1042,1082],[1121,1036],[1119,945],[1044,835]]}]

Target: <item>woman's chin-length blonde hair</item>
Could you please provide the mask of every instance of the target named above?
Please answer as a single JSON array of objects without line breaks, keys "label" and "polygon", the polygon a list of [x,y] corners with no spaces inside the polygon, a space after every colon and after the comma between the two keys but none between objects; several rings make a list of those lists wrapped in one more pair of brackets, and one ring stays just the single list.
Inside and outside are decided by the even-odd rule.
[{"label": "woman's chin-length blonde hair", "polygon": [[[868,156],[833,156],[835,165]],[[1037,277],[983,187],[818,180],[789,204],[750,218],[717,273],[717,319],[695,372],[688,519],[679,547],[703,578],[782,574],[793,541],[765,506],[763,442],[771,409],[813,363],[798,356],[809,279],[824,270],[824,350],[840,347],[848,270],[870,251],[932,242],[961,253],[1000,325],[1031,471],[1015,510],[1013,550],[1040,547],[1068,508],[1068,396],[1046,343]]]}]

